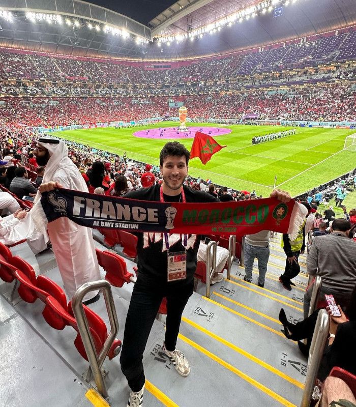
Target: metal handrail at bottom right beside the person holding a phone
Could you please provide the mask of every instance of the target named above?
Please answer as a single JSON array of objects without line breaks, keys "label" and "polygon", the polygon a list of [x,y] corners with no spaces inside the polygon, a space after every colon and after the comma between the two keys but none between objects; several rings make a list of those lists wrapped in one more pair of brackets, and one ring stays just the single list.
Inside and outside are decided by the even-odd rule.
[{"label": "metal handrail at bottom right beside the person holding a phone", "polygon": [[301,407],[309,407],[313,395],[316,375],[329,336],[330,318],[328,312],[321,309],[316,319],[314,334],[309,350],[308,373],[305,380]]}]

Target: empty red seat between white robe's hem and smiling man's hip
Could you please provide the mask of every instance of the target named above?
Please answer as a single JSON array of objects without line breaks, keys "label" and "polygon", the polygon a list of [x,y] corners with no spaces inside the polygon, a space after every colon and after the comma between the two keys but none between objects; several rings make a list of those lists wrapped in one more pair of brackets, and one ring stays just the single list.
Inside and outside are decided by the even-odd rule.
[{"label": "empty red seat between white robe's hem and smiling man's hip", "polygon": [[129,283],[134,275],[126,268],[126,261],[116,253],[95,249],[99,265],[106,271],[105,280],[115,287]]}]

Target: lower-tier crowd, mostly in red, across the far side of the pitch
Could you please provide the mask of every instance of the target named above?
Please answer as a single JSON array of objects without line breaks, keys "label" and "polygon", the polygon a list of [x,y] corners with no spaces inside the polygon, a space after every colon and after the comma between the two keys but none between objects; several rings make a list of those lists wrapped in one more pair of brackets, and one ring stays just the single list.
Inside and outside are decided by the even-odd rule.
[{"label": "lower-tier crowd, mostly in red, across the far side of the pitch", "polygon": [[[349,85],[329,84],[285,89],[283,93],[251,89],[236,93],[181,97],[191,119],[354,121],[356,92]],[[1,98],[0,128],[66,126],[130,122],[174,117],[164,97],[146,98]]]}]

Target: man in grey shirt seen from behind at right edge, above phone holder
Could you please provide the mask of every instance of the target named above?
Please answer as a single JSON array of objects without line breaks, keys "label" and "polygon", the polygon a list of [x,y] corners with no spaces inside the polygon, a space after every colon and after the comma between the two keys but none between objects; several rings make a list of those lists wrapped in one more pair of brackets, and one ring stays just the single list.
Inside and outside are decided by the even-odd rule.
[{"label": "man in grey shirt seen from behind at right edge, above phone holder", "polygon": [[[356,244],[348,238],[350,222],[336,219],[331,234],[313,239],[307,256],[307,271],[322,278],[320,299],[332,294],[341,306],[349,303],[356,281]],[[308,316],[313,285],[304,295],[304,317]]]}]

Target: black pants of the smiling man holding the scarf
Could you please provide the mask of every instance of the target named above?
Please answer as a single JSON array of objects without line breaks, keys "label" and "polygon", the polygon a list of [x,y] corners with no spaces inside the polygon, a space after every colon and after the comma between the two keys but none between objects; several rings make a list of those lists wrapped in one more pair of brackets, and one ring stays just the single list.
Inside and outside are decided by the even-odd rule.
[{"label": "black pants of the smiling man holding the scarf", "polygon": [[142,276],[140,278],[138,274],[126,317],[120,357],[121,370],[132,391],[140,391],[145,382],[143,352],[163,297],[167,298],[164,343],[168,351],[174,351],[182,313],[193,294],[193,287],[194,280],[187,284],[182,282],[160,284]]}]

